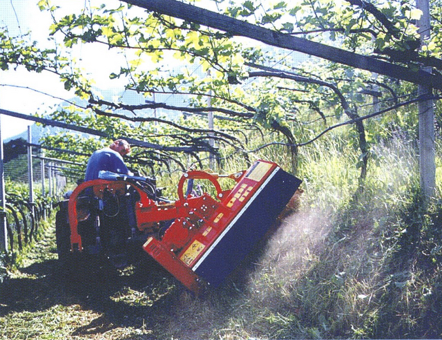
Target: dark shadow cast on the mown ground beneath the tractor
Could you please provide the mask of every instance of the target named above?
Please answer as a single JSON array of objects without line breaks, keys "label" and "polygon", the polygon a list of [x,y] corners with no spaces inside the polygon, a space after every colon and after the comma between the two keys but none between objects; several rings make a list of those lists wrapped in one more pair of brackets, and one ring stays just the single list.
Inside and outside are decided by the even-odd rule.
[{"label": "dark shadow cast on the mown ground beneath the tractor", "polygon": [[0,317],[58,305],[94,312],[90,323],[78,327],[71,336],[104,334],[120,327],[153,329],[183,291],[147,256],[125,271],[93,263],[66,272],[59,261],[45,260],[20,272],[1,285]]}]

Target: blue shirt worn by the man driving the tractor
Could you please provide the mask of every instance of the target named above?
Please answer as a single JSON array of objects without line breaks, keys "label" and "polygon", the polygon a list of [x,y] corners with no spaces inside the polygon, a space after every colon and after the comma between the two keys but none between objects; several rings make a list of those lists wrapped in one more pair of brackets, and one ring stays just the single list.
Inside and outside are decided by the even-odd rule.
[{"label": "blue shirt worn by the man driving the tractor", "polygon": [[90,156],[84,180],[96,180],[99,171],[102,170],[123,173],[125,175],[129,173],[122,155],[110,148],[99,149]]}]

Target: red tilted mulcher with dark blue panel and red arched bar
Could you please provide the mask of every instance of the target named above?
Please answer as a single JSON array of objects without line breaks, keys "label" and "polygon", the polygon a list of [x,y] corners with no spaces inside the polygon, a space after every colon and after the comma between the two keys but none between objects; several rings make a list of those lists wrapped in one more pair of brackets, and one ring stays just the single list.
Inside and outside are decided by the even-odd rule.
[{"label": "red tilted mulcher with dark blue panel and red arched bar", "polygon": [[[236,185],[223,191],[220,177],[229,177]],[[200,278],[213,286],[222,283],[265,236],[301,183],[276,163],[258,160],[247,171],[230,176],[186,172],[178,183],[178,200],[162,202],[147,195],[132,179],[117,176],[114,181],[94,180],[75,189],[69,200],[72,251],[82,250],[77,232],[79,193],[93,187],[94,196],[102,199],[104,192],[122,195],[131,186],[137,192],[134,211],[137,234],[145,240],[142,247],[195,293],[200,290]],[[184,182],[195,179],[213,183],[216,198],[207,193],[185,196]]]}]

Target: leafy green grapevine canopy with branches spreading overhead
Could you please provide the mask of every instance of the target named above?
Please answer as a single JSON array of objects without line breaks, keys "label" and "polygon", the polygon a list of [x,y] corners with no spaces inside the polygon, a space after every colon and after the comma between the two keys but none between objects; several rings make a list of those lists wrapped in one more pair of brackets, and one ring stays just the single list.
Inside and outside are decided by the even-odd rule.
[{"label": "leafy green grapevine canopy with branches spreading overhead", "polygon": [[[189,10],[173,17],[173,3]],[[414,83],[434,86],[434,98],[442,88],[440,5],[430,1],[434,34],[421,44],[416,21],[422,12],[410,1],[94,0],[66,13],[63,1],[41,0],[40,10],[52,17],[53,47],[11,37],[3,28],[0,68],[57,74],[76,98],[46,117],[150,143],[135,148],[134,162],[169,167],[175,161],[185,169],[183,152],[201,163],[205,151],[219,160],[236,153],[249,159],[283,145],[296,171],[299,147],[349,124],[349,147],[358,147],[364,177],[370,143],[391,133],[401,108],[425,99]],[[222,15],[226,27],[208,23],[209,12],[198,6]],[[281,44],[285,40],[292,50]],[[300,55],[295,43],[321,58]],[[75,58],[86,46],[97,46],[102,62],[118,60],[106,84],[121,88],[119,96],[95,86],[88,65]],[[356,64],[338,64],[339,51]],[[423,75],[422,66],[432,73]],[[215,115],[213,129],[209,114]],[[367,129],[366,120],[376,116]],[[100,144],[69,133],[44,143],[86,152]]]}]

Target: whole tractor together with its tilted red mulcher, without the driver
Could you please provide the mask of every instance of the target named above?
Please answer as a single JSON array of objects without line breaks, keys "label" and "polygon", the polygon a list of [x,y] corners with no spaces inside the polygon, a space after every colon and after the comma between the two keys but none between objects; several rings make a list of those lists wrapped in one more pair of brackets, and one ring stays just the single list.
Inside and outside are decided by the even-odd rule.
[{"label": "whole tractor together with its tilted red mulcher, without the driver", "polygon": [[[222,189],[222,178],[233,182],[230,189]],[[212,195],[192,190],[195,180],[209,181]],[[229,175],[187,171],[177,184],[177,200],[169,200],[155,178],[101,171],[59,203],[57,253],[63,265],[87,256],[124,268],[144,251],[198,294],[238,267],[300,183],[278,164],[257,160]]]}]

